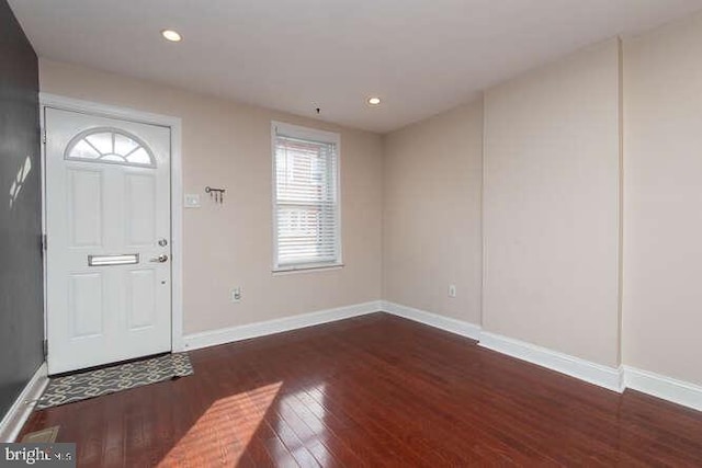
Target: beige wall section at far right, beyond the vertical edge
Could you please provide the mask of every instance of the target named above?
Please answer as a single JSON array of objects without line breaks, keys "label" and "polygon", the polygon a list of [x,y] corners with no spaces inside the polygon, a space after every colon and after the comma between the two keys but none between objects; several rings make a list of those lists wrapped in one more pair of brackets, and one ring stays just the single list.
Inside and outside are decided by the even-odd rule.
[{"label": "beige wall section at far right, beyond the vertical edge", "polygon": [[624,65],[624,361],[702,385],[702,14]]}]

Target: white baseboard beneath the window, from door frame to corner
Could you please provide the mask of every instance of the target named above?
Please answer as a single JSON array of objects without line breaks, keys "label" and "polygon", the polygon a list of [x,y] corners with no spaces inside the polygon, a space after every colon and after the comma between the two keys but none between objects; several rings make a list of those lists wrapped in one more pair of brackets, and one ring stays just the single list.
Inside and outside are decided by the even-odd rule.
[{"label": "white baseboard beneath the window, from door frame to corner", "polygon": [[183,341],[185,343],[185,350],[199,350],[201,347],[216,346],[218,344],[233,343],[235,341],[249,340],[251,338],[265,336],[268,334],[282,333],[301,328],[349,319],[351,317],[378,312],[381,311],[381,308],[382,303],[380,300],[374,300],[371,303],[319,310],[299,316],[268,320],[264,322],[188,334],[183,338]]}]

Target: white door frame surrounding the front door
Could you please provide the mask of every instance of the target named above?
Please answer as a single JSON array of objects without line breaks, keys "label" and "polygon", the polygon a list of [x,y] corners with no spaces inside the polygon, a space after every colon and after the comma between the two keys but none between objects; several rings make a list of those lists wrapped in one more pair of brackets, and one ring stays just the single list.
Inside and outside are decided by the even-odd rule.
[{"label": "white door frame surrounding the front door", "polygon": [[[171,129],[171,351],[184,351],[183,342],[183,168],[182,122],[180,117],[152,114],[129,107],[120,107],[39,93],[42,141],[46,135],[44,110],[46,107],[72,111],[100,117],[118,118],[140,124],[166,126]],[[46,235],[46,145],[42,144],[42,233]],[[48,239],[50,249],[50,238]],[[44,254],[44,338],[46,339],[46,254]],[[50,352],[50,350],[49,350]]]}]

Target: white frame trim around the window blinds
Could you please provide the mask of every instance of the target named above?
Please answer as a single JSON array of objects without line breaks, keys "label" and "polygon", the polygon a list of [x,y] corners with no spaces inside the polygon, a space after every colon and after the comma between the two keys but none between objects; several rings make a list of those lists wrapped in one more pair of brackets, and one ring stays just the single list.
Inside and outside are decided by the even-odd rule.
[{"label": "white frame trim around the window blinds", "polygon": [[[335,153],[336,153],[336,171],[332,174],[336,181],[337,187],[337,199],[336,199],[336,239],[335,239],[335,249],[336,249],[336,259],[331,262],[301,262],[293,264],[279,264],[279,241],[278,241],[278,180],[276,180],[276,158],[275,158],[275,148],[278,135],[282,135],[290,138],[297,138],[302,140],[321,142],[321,144],[332,144],[335,145]],[[326,132],[316,128],[303,127],[299,125],[287,124],[284,122],[271,122],[271,181],[272,181],[272,203],[271,203],[271,212],[273,217],[273,259],[272,259],[272,272],[273,274],[286,274],[286,273],[295,273],[295,272],[310,272],[310,271],[324,271],[324,270],[335,270],[343,266],[343,256],[342,256],[342,227],[341,227],[341,135],[333,132]]]}]

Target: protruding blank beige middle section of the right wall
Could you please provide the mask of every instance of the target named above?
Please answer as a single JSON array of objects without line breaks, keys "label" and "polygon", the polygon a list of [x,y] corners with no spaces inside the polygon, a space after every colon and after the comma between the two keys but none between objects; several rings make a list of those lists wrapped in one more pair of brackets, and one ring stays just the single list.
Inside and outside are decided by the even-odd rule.
[{"label": "protruding blank beige middle section of the right wall", "polygon": [[485,330],[619,365],[619,42],[485,95]]}]

